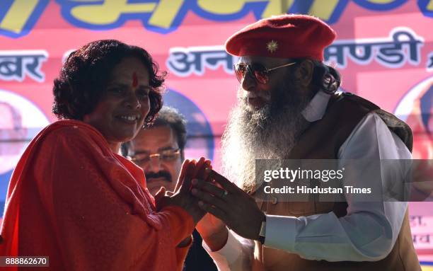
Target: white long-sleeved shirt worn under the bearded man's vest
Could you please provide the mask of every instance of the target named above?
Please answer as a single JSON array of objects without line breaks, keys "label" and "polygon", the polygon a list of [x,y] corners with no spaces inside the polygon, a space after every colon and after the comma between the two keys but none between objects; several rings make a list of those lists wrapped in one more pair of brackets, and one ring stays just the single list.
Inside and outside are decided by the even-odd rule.
[{"label": "white long-sleeved shirt worn under the bearded man's vest", "polygon": [[[306,120],[320,120],[330,96],[318,92],[302,113]],[[366,115],[340,147],[337,158],[346,159],[410,159],[411,154],[401,139],[391,132],[375,113]],[[351,184],[361,184],[363,168],[358,168]],[[383,187],[402,182],[389,167],[381,168]],[[399,178],[397,176],[397,178]],[[391,252],[400,232],[408,207],[407,202],[353,202],[347,198],[347,215],[333,212],[308,217],[266,215],[265,246],[296,253],[308,260],[376,261]],[[226,245],[218,251],[203,247],[219,270],[248,270],[253,258],[253,242],[229,231]]]}]

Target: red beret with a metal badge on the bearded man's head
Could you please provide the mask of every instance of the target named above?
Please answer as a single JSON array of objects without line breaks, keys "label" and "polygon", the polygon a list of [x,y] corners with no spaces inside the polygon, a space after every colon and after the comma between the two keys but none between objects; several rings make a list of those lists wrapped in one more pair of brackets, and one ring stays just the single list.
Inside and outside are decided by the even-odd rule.
[{"label": "red beret with a metal badge on the bearded man's head", "polygon": [[323,61],[335,31],[320,19],[299,14],[273,16],[247,25],[226,41],[229,54]]}]

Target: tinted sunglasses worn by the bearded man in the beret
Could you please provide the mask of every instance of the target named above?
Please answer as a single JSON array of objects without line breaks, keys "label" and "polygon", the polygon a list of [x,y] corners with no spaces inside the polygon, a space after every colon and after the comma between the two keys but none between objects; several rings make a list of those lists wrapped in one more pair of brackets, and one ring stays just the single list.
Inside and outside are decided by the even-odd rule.
[{"label": "tinted sunglasses worn by the bearded man in the beret", "polygon": [[258,83],[265,84],[265,83],[267,83],[267,81],[269,81],[268,74],[270,73],[270,71],[273,71],[275,69],[279,69],[282,67],[288,67],[288,66],[291,66],[293,64],[296,64],[296,62],[291,62],[291,63],[284,64],[284,65],[274,67],[271,69],[266,69],[266,67],[260,63],[250,63],[250,64],[238,63],[238,64],[234,65],[234,70],[235,70],[235,74],[236,74],[236,79],[238,79],[239,83],[242,83],[243,78],[245,77],[246,73],[248,72],[250,74],[250,76],[253,76],[255,81],[257,81]]}]

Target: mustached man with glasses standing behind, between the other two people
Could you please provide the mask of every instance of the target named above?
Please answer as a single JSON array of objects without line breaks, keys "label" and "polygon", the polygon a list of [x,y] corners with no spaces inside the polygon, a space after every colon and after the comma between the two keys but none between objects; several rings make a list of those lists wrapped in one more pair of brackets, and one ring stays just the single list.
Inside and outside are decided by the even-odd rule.
[{"label": "mustached man with glasses standing behind, between the other two people", "polygon": [[[175,189],[180,168],[185,160],[187,141],[186,120],[175,108],[164,106],[154,125],[142,129],[131,142],[122,144],[122,155],[129,156],[143,168],[146,185],[152,195],[163,186],[167,191]],[[197,231],[185,260],[183,270],[217,270],[212,258],[202,248],[202,238]]]}]

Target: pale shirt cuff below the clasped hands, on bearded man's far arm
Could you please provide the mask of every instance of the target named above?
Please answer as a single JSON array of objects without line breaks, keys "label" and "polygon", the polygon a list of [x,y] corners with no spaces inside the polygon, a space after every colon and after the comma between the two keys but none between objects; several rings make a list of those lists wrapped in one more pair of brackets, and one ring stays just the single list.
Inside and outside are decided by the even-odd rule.
[{"label": "pale shirt cuff below the clasped hands, on bearded man's far arm", "polygon": [[243,244],[241,241],[229,231],[229,236],[227,238],[226,244],[217,251],[212,251],[206,242],[202,242],[203,248],[209,253],[209,255],[214,259],[215,263],[226,263],[228,265],[233,265],[242,256]]}]

